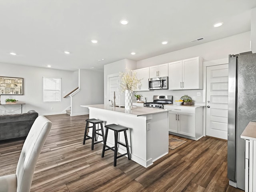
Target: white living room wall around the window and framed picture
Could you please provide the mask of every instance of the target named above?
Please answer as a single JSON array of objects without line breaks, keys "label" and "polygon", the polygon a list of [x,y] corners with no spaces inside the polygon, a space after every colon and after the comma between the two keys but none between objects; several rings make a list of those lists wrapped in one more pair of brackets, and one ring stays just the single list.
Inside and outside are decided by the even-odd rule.
[{"label": "white living room wall around the window and framed picture", "polygon": [[[24,78],[24,95],[2,95],[1,103],[7,98],[26,103],[22,112],[35,110],[39,115],[61,114],[70,106],[70,98],[63,98],[67,93],[78,87],[78,73],[48,68],[0,63],[0,76]],[[61,102],[43,102],[42,77],[61,78]],[[64,92],[66,92],[64,94]],[[0,106],[7,111],[15,110],[18,106]],[[51,108],[53,108],[51,110]],[[17,111],[20,113],[20,110]],[[0,111],[2,114],[2,111]]]}]

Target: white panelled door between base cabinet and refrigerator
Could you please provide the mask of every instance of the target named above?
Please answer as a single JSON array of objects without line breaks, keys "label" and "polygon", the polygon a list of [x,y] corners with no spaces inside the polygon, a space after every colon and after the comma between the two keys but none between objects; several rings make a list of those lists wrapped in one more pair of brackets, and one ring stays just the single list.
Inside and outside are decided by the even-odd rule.
[{"label": "white panelled door between base cabinet and refrigerator", "polygon": [[228,64],[206,68],[206,135],[228,139]]}]

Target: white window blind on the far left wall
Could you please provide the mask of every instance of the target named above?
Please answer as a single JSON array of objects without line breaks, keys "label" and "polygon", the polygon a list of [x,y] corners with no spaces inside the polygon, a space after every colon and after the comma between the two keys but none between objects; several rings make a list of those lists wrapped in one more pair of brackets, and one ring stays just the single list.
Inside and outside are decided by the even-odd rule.
[{"label": "white window blind on the far left wall", "polygon": [[43,77],[43,101],[60,102],[61,78]]}]

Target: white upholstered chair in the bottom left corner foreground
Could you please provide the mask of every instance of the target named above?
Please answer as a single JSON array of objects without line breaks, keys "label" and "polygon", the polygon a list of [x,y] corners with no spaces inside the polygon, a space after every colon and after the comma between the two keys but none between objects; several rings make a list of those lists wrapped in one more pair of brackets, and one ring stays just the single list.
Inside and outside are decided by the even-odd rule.
[{"label": "white upholstered chair in the bottom left corner foreground", "polygon": [[36,162],[51,127],[52,122],[44,116],[36,118],[22,147],[16,174],[0,177],[0,192],[30,191]]}]

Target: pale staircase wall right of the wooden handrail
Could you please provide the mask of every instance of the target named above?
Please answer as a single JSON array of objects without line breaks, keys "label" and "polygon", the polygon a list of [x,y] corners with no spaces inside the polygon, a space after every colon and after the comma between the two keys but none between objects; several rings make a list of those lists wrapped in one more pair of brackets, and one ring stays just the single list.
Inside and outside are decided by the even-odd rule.
[{"label": "pale staircase wall right of the wooden handrail", "polygon": [[103,104],[104,75],[102,71],[79,70],[80,91],[72,96],[72,116],[89,114],[88,108],[81,105]]}]

